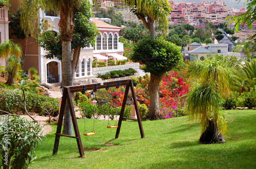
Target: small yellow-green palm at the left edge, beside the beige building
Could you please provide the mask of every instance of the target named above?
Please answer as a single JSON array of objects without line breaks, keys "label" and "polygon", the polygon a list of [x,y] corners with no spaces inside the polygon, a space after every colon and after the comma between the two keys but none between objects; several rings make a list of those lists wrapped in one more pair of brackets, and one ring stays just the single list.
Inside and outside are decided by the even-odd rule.
[{"label": "small yellow-green palm at the left edge, beside the beige building", "polygon": [[8,40],[0,44],[0,57],[6,59],[6,68],[8,72],[8,80],[6,84],[14,84],[13,75],[15,75],[19,69],[19,58],[22,54],[22,48],[15,44],[13,41]]}]

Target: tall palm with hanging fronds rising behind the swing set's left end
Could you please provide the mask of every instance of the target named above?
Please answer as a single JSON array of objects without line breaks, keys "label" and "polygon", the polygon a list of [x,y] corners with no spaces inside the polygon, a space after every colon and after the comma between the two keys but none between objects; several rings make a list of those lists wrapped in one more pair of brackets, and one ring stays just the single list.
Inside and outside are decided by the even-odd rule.
[{"label": "tall palm with hanging fronds rising behind the swing set's left end", "polygon": [[[31,15],[33,19],[38,18],[39,8],[44,10],[58,10],[60,15],[59,27],[61,32],[61,43],[62,43],[62,86],[72,86],[72,50],[71,41],[73,36],[74,25],[73,19],[73,8],[75,5],[79,5],[82,0],[21,0],[20,4],[23,8],[22,24],[26,27],[31,22]],[[63,134],[73,135],[71,115],[68,104],[66,104],[64,112],[64,125]]]}]

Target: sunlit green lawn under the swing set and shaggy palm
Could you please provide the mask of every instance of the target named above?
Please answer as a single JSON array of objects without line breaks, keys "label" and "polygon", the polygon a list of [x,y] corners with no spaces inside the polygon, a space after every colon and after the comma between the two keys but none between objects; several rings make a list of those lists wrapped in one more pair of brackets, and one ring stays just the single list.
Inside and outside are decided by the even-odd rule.
[{"label": "sunlit green lawn under the swing set and shaggy palm", "polygon": [[[95,121],[96,134],[81,136],[85,151],[78,158],[76,139],[60,137],[57,155],[52,155],[56,124],[36,149],[39,158],[30,168],[256,168],[256,110],[228,110],[228,133],[225,144],[204,145],[198,142],[200,126],[188,117],[143,121],[145,138],[140,138],[137,122],[122,122],[118,139],[108,121]],[[80,134],[84,131],[79,119]],[[114,121],[111,121],[114,125]],[[91,131],[93,120],[87,119]],[[111,124],[112,125],[112,124]],[[113,143],[118,146],[106,146]]]}]

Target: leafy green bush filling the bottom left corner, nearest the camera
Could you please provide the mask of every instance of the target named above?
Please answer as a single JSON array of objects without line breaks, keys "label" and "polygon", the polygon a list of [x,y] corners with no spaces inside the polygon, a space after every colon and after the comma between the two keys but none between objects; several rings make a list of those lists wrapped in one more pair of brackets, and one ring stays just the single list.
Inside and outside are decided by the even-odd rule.
[{"label": "leafy green bush filling the bottom left corner, nearest the camera", "polygon": [[16,116],[0,117],[0,164],[4,168],[28,168],[41,142],[40,125]]}]

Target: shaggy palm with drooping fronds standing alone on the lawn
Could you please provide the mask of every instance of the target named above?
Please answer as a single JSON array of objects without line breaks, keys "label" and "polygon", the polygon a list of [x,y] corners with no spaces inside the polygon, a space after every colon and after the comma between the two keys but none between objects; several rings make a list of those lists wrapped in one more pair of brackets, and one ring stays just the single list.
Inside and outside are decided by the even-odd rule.
[{"label": "shaggy palm with drooping fronds standing alone on the lawn", "polygon": [[201,121],[202,143],[225,143],[222,133],[227,130],[224,117],[219,112],[221,97],[232,89],[236,64],[228,57],[214,55],[204,61],[190,64],[188,73],[197,78],[197,84],[187,94],[188,111],[192,118]]}]

